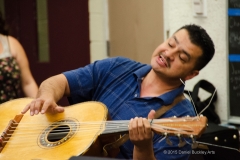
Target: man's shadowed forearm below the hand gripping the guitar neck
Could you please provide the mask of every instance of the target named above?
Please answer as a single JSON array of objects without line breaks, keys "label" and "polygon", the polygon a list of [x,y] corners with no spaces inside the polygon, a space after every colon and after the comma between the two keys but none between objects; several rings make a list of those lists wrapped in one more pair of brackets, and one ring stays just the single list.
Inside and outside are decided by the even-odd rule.
[{"label": "man's shadowed forearm below the hand gripping the guitar neck", "polygon": [[138,148],[134,146],[133,150],[133,159],[134,160],[156,160],[152,147]]}]

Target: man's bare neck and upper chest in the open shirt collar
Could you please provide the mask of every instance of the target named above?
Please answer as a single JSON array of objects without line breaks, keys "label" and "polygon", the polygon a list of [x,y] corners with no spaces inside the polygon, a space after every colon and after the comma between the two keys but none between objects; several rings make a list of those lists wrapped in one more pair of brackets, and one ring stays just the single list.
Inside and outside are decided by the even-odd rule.
[{"label": "man's bare neck and upper chest in the open shirt collar", "polygon": [[165,79],[151,70],[141,84],[141,97],[157,97],[178,88],[181,84],[180,79]]}]

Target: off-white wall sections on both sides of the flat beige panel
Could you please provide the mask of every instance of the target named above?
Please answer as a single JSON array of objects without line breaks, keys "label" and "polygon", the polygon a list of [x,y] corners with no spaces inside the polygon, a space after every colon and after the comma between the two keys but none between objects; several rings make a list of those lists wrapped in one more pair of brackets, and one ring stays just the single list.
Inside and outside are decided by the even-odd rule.
[{"label": "off-white wall sections on both sides of the flat beige panel", "polygon": [[[200,80],[210,81],[216,88],[216,110],[222,120],[228,119],[228,51],[227,51],[227,0],[205,0],[206,17],[195,17],[193,0],[164,0],[164,37],[171,36],[185,24],[198,24],[207,30],[215,43],[215,56],[200,74],[187,81],[192,90]],[[91,61],[107,57],[108,40],[107,0],[89,0]],[[201,91],[201,98],[208,95]]]}]

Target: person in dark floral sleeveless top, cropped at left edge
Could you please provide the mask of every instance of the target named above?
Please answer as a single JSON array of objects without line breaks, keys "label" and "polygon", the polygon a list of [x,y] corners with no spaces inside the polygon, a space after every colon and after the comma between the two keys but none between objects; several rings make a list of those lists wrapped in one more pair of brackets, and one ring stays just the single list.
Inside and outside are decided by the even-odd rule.
[{"label": "person in dark floral sleeveless top, cropped at left edge", "polygon": [[22,45],[9,35],[0,12],[0,103],[19,98],[21,91],[34,98],[38,86]]}]

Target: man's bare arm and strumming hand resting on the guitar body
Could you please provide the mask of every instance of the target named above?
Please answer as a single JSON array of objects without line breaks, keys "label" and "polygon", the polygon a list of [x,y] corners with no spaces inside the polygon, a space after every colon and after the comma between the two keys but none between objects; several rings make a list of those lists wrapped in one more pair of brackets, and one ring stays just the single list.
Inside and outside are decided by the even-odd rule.
[{"label": "man's bare arm and strumming hand resting on the guitar body", "polygon": [[63,107],[57,105],[57,102],[64,96],[69,95],[70,89],[66,77],[59,74],[43,81],[39,87],[37,97],[28,104],[22,111],[26,113],[30,110],[30,115],[37,115],[39,112],[59,113],[63,112]]}]

